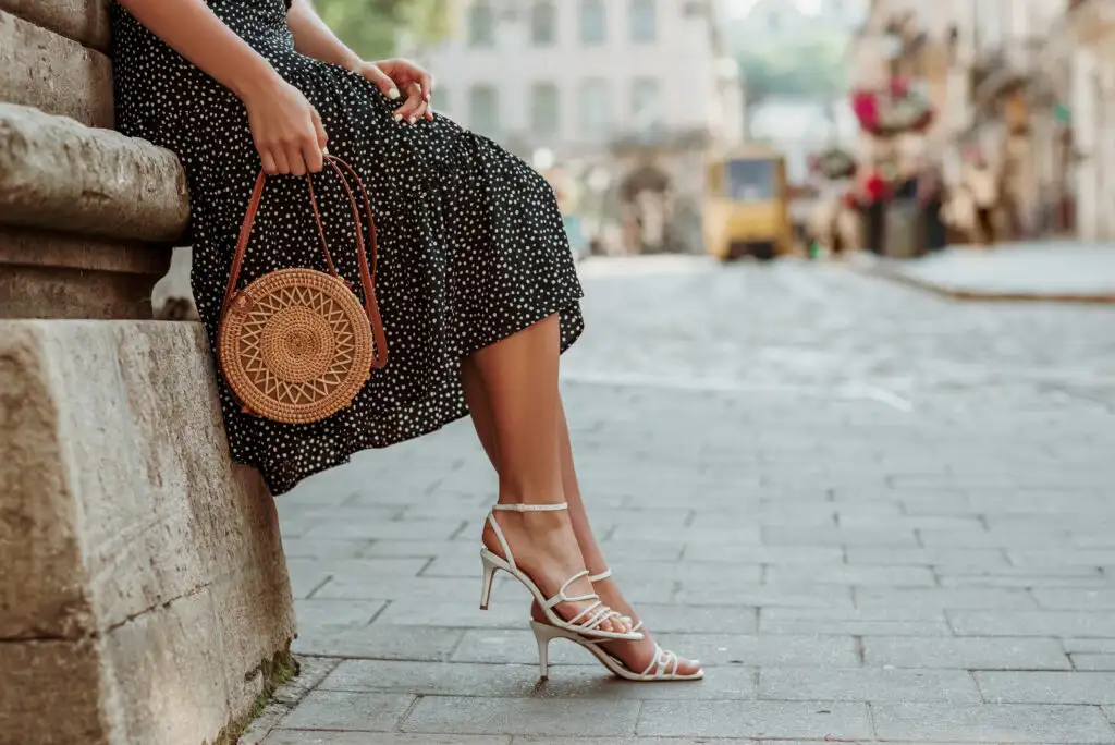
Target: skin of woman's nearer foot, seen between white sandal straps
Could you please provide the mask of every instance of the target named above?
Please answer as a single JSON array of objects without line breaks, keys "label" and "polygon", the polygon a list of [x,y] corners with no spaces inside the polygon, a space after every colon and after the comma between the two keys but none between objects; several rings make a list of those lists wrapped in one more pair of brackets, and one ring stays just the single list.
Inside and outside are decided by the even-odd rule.
[{"label": "skin of woman's nearer foot, seen between white sandal straps", "polygon": [[[565,510],[558,512],[495,512],[495,520],[503,531],[507,544],[515,557],[515,565],[525,572],[539,589],[546,597],[558,594],[562,584],[570,577],[584,571],[584,558],[576,543],[576,535],[573,533],[573,524],[570,522],[569,512]],[[500,540],[495,535],[492,526],[484,523],[484,545],[488,551],[506,559]],[[565,594],[571,598],[578,596],[600,593],[594,589],[588,577],[582,577],[565,589]],[[554,612],[569,620],[584,613],[595,601],[582,600],[575,602],[562,602],[554,606]],[[604,601],[604,606],[608,602]],[[546,622],[545,613],[535,602],[539,620]],[[586,620],[595,616],[603,608],[598,608],[579,619]],[[619,616],[608,617],[598,627],[601,631],[613,633],[630,633],[631,622]]]}]

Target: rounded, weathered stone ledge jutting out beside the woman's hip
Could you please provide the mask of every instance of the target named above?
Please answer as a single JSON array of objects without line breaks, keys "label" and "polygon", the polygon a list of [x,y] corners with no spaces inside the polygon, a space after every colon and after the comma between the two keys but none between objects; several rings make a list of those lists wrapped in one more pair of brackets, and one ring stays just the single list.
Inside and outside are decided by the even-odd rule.
[{"label": "rounded, weathered stone ledge jutting out beside the woman's hip", "polygon": [[188,214],[169,151],[0,104],[0,224],[174,242]]}]

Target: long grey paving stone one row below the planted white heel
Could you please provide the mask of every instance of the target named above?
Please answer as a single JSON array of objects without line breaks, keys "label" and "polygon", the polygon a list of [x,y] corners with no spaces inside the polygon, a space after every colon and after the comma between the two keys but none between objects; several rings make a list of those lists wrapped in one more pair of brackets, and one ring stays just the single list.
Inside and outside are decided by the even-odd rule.
[{"label": "long grey paving stone one row below the planted white heel", "polygon": [[[369,694],[361,694],[369,695]],[[404,732],[510,735],[631,735],[639,702],[427,696]]]}]

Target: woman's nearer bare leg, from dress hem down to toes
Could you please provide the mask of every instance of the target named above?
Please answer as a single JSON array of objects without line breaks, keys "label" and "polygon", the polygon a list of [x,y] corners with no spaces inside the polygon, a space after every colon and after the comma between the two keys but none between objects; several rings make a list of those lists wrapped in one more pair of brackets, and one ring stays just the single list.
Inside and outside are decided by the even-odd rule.
[{"label": "woman's nearer bare leg, from dress hem down to toes", "polygon": [[[560,348],[558,316],[551,316],[473,355],[466,369],[474,369],[479,389],[488,401],[488,442],[496,456],[500,474],[500,502],[504,504],[556,504],[564,502],[561,462],[556,442],[558,355]],[[471,381],[473,395],[477,387]],[[466,395],[468,386],[466,386]],[[486,425],[484,425],[486,426]],[[492,452],[489,451],[489,455]],[[573,533],[570,512],[496,512],[516,564],[545,594],[555,594],[566,579],[584,570]],[[498,539],[484,525],[484,544],[502,554]],[[586,578],[569,587],[570,596],[590,594]],[[562,603],[555,611],[564,618],[581,613],[585,601]],[[626,632],[623,621],[609,619],[600,628]]]}]

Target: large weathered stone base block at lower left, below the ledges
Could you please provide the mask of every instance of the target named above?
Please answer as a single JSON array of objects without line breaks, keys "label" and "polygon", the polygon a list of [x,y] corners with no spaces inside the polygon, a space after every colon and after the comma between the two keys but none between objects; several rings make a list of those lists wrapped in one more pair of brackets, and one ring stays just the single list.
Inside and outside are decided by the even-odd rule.
[{"label": "large weathered stone base block at lower left, below the ledges", "polygon": [[294,629],[274,505],[230,462],[201,327],[0,321],[0,667],[25,670],[0,732],[213,742]]}]

